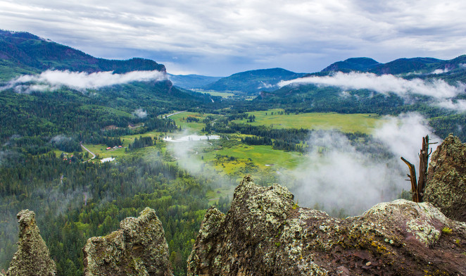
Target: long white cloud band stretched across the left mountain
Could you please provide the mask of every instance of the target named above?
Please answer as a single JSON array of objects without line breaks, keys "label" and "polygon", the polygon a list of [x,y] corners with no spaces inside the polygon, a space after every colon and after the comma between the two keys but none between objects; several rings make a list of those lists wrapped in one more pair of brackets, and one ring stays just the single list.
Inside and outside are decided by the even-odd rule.
[{"label": "long white cloud band stretched across the left mountain", "polygon": [[14,88],[18,93],[29,93],[32,91],[56,90],[60,87],[71,87],[73,89],[99,89],[101,87],[128,82],[149,82],[166,80],[165,73],[158,70],[132,71],[125,74],[113,74],[112,72],[70,72],[68,70],[46,70],[40,75],[22,75],[8,82],[0,89]]}]

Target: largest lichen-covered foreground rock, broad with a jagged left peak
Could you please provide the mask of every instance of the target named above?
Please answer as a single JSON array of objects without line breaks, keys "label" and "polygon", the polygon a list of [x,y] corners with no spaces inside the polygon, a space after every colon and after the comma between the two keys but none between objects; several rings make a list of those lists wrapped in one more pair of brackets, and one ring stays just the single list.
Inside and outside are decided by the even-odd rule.
[{"label": "largest lichen-covered foreground rock, broad with a jagged left peak", "polygon": [[466,274],[466,223],[430,203],[379,203],[339,220],[293,199],[245,177],[227,215],[206,213],[188,275]]}]

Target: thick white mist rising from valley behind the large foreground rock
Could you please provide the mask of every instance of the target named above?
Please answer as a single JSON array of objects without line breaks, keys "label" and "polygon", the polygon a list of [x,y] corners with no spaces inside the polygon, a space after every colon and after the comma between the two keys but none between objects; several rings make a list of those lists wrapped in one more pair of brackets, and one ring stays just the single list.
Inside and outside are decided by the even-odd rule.
[{"label": "thick white mist rising from valley behind the large foreground rock", "polygon": [[379,202],[398,198],[403,189],[410,190],[405,181],[408,167],[400,157],[417,166],[422,137],[441,139],[417,113],[385,119],[372,132],[372,145],[351,142],[341,132],[312,132],[308,144],[313,151],[291,172],[295,184],[290,189],[300,206],[332,215],[360,215]]}]

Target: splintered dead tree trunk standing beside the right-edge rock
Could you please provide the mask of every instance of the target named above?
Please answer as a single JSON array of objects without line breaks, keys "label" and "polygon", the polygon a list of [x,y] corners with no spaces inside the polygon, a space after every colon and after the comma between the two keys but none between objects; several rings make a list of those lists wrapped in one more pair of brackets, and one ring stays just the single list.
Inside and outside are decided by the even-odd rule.
[{"label": "splintered dead tree trunk standing beside the right-edge rock", "polygon": [[429,144],[436,144],[436,143],[429,143],[429,135],[426,137],[422,137],[422,149],[419,154],[419,180],[416,181],[416,168],[415,166],[408,162],[405,158],[401,157],[408,168],[410,169],[410,177],[411,182],[411,193],[413,194],[413,201],[414,202],[422,202],[424,197],[424,189],[427,184],[427,166],[429,165],[429,155],[432,153],[432,149],[429,152]]}]

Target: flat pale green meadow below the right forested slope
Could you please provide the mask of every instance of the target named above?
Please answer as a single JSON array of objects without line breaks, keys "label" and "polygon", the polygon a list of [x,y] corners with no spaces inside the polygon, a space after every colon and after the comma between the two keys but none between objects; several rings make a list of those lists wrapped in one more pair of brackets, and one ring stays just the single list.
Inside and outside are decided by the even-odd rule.
[{"label": "flat pale green meadow below the right forested slope", "polygon": [[[277,115],[279,111],[283,110],[249,112],[248,114],[256,116],[256,121],[248,124],[267,125],[274,128],[302,127],[315,130],[337,129],[343,132],[370,133],[381,120],[377,114],[301,113]],[[266,113],[267,115],[265,115]],[[247,123],[247,120],[236,120],[235,122]]]}]

